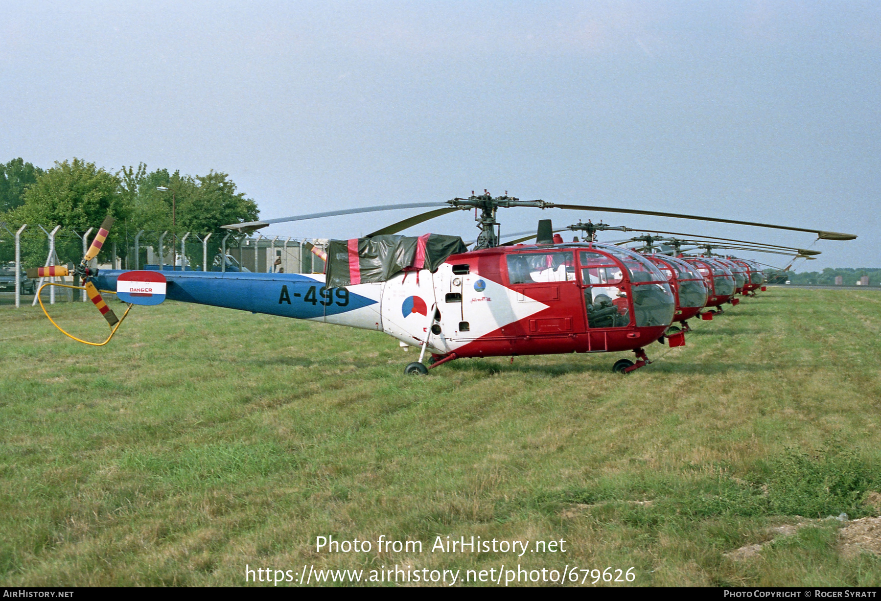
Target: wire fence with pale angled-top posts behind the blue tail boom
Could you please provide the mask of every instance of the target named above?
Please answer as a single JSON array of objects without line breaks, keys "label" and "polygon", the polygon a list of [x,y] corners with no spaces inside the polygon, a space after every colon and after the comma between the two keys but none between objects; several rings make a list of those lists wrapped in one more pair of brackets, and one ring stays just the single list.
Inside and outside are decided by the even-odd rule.
[{"label": "wire fence with pale angled-top posts behind the blue tail boom", "polygon": [[[43,281],[27,279],[25,271],[48,264],[79,264],[96,233],[97,228],[84,232],[60,226],[27,225],[13,228],[0,222],[0,306],[36,304],[34,294]],[[119,239],[105,245],[100,256],[93,259],[94,267],[117,270],[323,273],[324,262],[312,249],[326,252],[328,245],[327,240],[315,238],[296,240],[282,236],[236,237],[234,234],[144,230],[124,232]],[[78,285],[73,276],[53,279],[57,283]],[[85,292],[46,286],[41,298],[50,304],[85,301]]]}]

